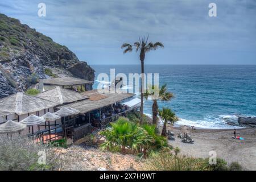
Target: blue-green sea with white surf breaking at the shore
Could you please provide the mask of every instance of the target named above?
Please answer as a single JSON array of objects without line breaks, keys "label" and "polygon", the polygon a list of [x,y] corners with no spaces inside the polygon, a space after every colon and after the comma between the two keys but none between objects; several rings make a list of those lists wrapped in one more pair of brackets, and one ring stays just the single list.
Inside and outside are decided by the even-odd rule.
[{"label": "blue-green sea with white surf breaking at the shore", "polygon": [[[92,65],[93,88],[110,82],[110,69],[118,73],[141,73],[141,65]],[[174,93],[171,101],[158,101],[159,108],[175,111],[176,125],[205,129],[231,129],[237,115],[256,116],[256,65],[144,65],[145,73],[159,73],[159,85]],[[98,77],[100,73],[108,80]],[[154,77],[153,77],[154,78]],[[154,80],[154,79],[153,79]],[[124,89],[133,85],[124,84]],[[139,93],[136,93],[139,95]],[[152,115],[152,101],[144,102],[144,113]]]}]

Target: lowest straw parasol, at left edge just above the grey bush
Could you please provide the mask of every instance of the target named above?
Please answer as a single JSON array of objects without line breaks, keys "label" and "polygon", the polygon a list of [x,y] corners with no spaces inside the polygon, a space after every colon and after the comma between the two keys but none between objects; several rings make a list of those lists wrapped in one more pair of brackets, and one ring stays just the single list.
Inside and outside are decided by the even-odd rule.
[{"label": "lowest straw parasol, at left edge just above the grey bush", "polygon": [[9,120],[9,121],[3,123],[2,125],[0,125],[0,134],[19,133],[20,131],[23,131],[24,129],[26,129],[26,125]]}]

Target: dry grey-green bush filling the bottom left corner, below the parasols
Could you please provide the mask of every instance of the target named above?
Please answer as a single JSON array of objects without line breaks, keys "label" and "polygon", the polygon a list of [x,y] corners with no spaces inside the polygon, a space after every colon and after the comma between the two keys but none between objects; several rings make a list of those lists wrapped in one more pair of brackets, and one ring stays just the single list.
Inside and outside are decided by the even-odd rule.
[{"label": "dry grey-green bush filling the bottom left corner, below the parasols", "polygon": [[[0,171],[54,170],[59,168],[59,160],[47,144],[34,143],[28,137],[6,134],[0,137]],[[46,164],[39,164],[38,159],[45,152]]]}]

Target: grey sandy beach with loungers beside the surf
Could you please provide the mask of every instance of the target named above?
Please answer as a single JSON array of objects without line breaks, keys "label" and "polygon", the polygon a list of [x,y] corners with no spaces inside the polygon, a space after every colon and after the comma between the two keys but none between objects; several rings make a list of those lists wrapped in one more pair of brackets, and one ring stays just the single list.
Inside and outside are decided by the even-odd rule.
[{"label": "grey sandy beach with loungers beside the surf", "polygon": [[170,125],[167,129],[175,134],[175,140],[169,140],[169,144],[179,147],[181,154],[208,158],[209,151],[216,151],[217,157],[228,163],[238,162],[246,170],[256,170],[256,129],[237,129],[237,136],[245,140],[233,139],[233,130],[189,129],[193,144],[183,143],[176,137],[184,130]]}]

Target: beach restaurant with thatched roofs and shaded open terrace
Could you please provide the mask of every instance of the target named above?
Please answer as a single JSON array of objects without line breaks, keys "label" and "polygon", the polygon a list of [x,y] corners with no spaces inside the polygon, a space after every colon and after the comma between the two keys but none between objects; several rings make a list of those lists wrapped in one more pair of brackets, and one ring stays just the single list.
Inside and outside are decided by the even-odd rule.
[{"label": "beach restaurant with thatched roofs and shaded open terrace", "polygon": [[139,110],[139,100],[134,96],[97,90],[79,93],[63,86],[55,86],[37,96],[18,92],[0,100],[0,125],[9,120],[23,122],[31,115],[45,117],[52,113],[60,117],[55,121],[27,126],[22,134],[40,137],[44,142],[61,137],[76,141],[94,130],[104,129],[121,115]]}]

